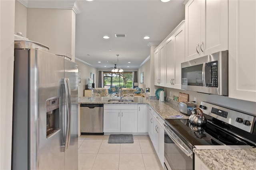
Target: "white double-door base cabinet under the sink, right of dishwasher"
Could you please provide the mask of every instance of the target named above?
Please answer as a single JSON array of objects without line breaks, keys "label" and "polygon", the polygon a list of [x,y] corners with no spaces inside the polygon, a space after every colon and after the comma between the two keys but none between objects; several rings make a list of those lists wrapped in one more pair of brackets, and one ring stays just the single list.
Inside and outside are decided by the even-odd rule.
[{"label": "white double-door base cabinet under the sink, right of dishwasher", "polygon": [[[104,105],[104,133],[137,133],[138,131],[137,104]],[[122,109],[120,109],[122,108]]]}]

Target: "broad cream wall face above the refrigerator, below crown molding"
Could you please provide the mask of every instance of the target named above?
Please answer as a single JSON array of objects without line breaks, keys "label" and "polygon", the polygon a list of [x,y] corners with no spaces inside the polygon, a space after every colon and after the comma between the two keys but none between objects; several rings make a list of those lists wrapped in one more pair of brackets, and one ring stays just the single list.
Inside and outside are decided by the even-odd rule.
[{"label": "broad cream wall face above the refrigerator, below crown molding", "polygon": [[50,53],[72,55],[75,60],[73,10],[28,8],[27,38],[47,45]]}]

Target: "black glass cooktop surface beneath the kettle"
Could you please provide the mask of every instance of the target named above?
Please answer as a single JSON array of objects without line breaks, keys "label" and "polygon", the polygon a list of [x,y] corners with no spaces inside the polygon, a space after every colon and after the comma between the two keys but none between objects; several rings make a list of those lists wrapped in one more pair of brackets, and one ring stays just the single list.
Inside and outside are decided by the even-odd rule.
[{"label": "black glass cooktop surface beneath the kettle", "polygon": [[248,145],[244,141],[226,133],[212,123],[196,126],[188,119],[165,119],[166,124],[185,143],[194,145]]}]

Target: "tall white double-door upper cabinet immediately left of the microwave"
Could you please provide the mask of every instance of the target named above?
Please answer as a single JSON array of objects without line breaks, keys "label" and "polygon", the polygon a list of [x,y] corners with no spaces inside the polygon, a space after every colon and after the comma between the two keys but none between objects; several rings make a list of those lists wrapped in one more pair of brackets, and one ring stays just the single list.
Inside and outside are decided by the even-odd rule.
[{"label": "tall white double-door upper cabinet immediately left of the microwave", "polygon": [[181,89],[181,66],[185,61],[185,22],[166,41],[166,87]]}]

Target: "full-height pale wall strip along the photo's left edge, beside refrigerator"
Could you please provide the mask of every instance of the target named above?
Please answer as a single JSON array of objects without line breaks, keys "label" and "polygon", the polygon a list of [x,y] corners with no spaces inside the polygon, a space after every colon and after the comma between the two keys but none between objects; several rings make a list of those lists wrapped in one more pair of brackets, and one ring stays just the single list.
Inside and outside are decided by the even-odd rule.
[{"label": "full-height pale wall strip along the photo's left edge, beside refrigerator", "polygon": [[0,0],[0,169],[11,169],[14,0]]}]

